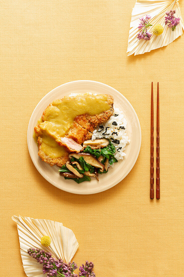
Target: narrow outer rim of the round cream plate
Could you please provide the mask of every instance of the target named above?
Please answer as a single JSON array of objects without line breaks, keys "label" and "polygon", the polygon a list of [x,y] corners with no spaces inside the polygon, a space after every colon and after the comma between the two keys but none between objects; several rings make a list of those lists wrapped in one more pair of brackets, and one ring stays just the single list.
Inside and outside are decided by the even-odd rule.
[{"label": "narrow outer rim of the round cream plate", "polygon": [[[61,85],[57,86],[56,88],[52,89],[51,91],[49,91],[49,92],[38,102],[38,104],[36,105],[35,109],[33,110],[32,114],[31,114],[31,117],[30,117],[30,120],[29,120],[29,124],[28,124],[28,129],[27,129],[27,145],[28,145],[29,154],[30,154],[30,144],[29,144],[29,139],[28,139],[28,133],[29,133],[30,125],[31,125],[31,119],[32,119],[32,117],[33,117],[34,111],[36,110],[37,106],[40,104],[40,102],[43,102],[43,101],[44,101],[44,99],[48,96],[48,94],[51,94],[51,93],[52,93],[53,91],[55,91],[56,89],[59,89],[60,87],[66,85],[66,84],[77,83],[77,82],[86,82],[86,83],[87,83],[87,82],[92,82],[92,83],[101,84],[101,85],[104,85],[104,86],[106,86],[106,87],[108,87],[108,88],[113,89],[117,94],[119,94],[121,97],[123,97],[123,98],[125,99],[125,101],[128,102],[128,104],[130,104],[130,106],[132,107],[133,111],[135,112],[135,109],[133,108],[132,104],[128,101],[128,99],[127,99],[123,94],[121,94],[119,91],[117,91],[117,89],[115,89],[115,88],[113,88],[113,87],[111,87],[111,86],[109,86],[109,85],[107,85],[107,84],[104,84],[104,83],[101,83],[101,82],[98,82],[98,81],[93,81],[93,80],[75,80],[75,81],[70,81],[70,82],[61,84]],[[138,149],[138,151],[137,151],[137,155],[136,155],[136,158],[135,158],[135,162],[132,163],[132,166],[130,167],[130,170],[128,171],[127,175],[130,173],[130,171],[132,170],[133,166],[135,165],[135,163],[136,163],[136,161],[137,161],[137,158],[138,158],[138,155],[139,155],[139,153],[140,153],[140,148],[141,148],[141,139],[142,139],[141,126],[140,126],[140,122],[139,122],[139,119],[138,119],[138,116],[137,116],[136,112],[135,112],[135,116],[136,116],[136,119],[137,119],[137,121],[138,121],[138,129],[139,129],[139,135],[140,135],[140,145],[139,145],[139,149]],[[30,154],[30,157],[31,157],[31,154]],[[34,159],[32,159],[32,157],[31,157],[31,160],[32,160],[34,166],[36,167],[36,169],[38,170],[38,172],[41,174],[41,176],[42,176],[44,179],[46,179],[50,184],[52,184],[53,186],[55,186],[55,187],[61,189],[62,191],[66,191],[66,192],[73,193],[73,194],[78,194],[78,195],[90,195],[90,194],[96,194],[96,193],[100,193],[100,192],[102,192],[102,191],[106,191],[106,190],[112,188],[113,186],[116,186],[119,182],[121,182],[121,181],[127,176],[127,175],[124,176],[124,178],[118,180],[118,182],[117,182],[117,181],[115,181],[115,183],[112,182],[112,184],[111,184],[107,189],[99,189],[98,191],[92,192],[92,193],[91,193],[91,192],[90,192],[90,193],[84,193],[84,192],[82,192],[82,193],[80,193],[80,192],[71,192],[70,190],[61,188],[61,187],[59,187],[59,185],[57,186],[57,184],[51,182],[52,180],[49,179],[49,177],[48,177],[47,175],[46,175],[46,176],[43,176],[43,174],[40,172],[39,168],[36,166],[36,162],[34,161]]]}]

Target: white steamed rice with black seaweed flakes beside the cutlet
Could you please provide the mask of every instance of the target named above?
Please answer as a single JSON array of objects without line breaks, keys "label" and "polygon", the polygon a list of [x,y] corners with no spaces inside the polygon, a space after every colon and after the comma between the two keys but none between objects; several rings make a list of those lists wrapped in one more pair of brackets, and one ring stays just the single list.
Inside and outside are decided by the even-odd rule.
[{"label": "white steamed rice with black seaweed flakes beside the cutlet", "polygon": [[[93,131],[92,140],[103,137],[110,139],[116,149],[114,157],[117,160],[123,160],[123,157],[126,156],[123,152],[125,146],[127,143],[130,143],[126,131],[127,120],[123,116],[123,112],[118,108],[114,108],[114,113],[109,120],[107,120],[105,124],[100,125],[98,130]],[[112,164],[112,167],[113,166],[114,163]]]}]

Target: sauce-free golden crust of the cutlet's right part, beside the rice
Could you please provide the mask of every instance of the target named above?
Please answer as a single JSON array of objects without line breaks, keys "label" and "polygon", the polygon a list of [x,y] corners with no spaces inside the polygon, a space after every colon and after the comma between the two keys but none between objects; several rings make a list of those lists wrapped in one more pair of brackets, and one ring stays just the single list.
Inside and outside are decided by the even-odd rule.
[{"label": "sauce-free golden crust of the cutlet's right part, beside the rice", "polygon": [[114,108],[113,108],[114,99],[109,94],[106,94],[106,96],[107,96],[107,103],[110,106],[109,110],[106,110],[101,114],[96,114],[94,116],[90,116],[89,114],[82,114],[80,116],[76,116],[75,121],[78,124],[80,124],[83,128],[88,129],[88,131],[90,132],[93,132],[94,129],[96,129],[96,127],[106,122],[114,112]]}]

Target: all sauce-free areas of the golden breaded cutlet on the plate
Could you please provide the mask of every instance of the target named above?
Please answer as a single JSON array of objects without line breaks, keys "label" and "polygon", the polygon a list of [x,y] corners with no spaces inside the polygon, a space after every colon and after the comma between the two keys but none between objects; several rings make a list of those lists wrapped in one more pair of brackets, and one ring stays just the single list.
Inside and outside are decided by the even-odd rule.
[{"label": "all sauce-free areas of the golden breaded cutlet on the plate", "polygon": [[[106,103],[109,105],[109,109],[94,116],[90,116],[89,114],[82,114],[75,117],[72,125],[70,126],[69,130],[65,133],[64,137],[58,136],[57,132],[50,132],[48,131],[48,124],[47,128],[44,129],[44,122],[48,123],[47,121],[47,109],[55,109],[53,102],[49,104],[49,106],[44,110],[42,114],[43,122],[35,126],[35,134],[38,137],[38,155],[40,158],[48,163],[49,165],[57,165],[62,166],[68,160],[68,153],[70,152],[81,152],[83,150],[82,143],[85,140],[89,140],[92,137],[92,132],[95,128],[97,128],[100,124],[106,122],[109,117],[114,112],[113,109],[113,98],[111,95],[105,94],[107,97]],[[62,101],[64,98],[59,99],[58,101]],[[65,97],[66,99],[66,97]],[[57,108],[56,108],[57,112]],[[54,124],[49,122],[49,124]],[[49,125],[50,126],[50,125]],[[43,151],[43,136],[51,136],[52,139],[57,143],[58,147],[63,147],[65,150],[64,155],[61,157],[50,157]]]}]

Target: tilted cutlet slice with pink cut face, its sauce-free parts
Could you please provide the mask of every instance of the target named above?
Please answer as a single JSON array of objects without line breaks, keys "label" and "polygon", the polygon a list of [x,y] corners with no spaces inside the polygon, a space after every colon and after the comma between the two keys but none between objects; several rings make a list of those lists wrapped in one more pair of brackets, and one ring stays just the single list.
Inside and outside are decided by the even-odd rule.
[{"label": "tilted cutlet slice with pink cut face, its sauce-free parts", "polygon": [[[49,122],[49,124],[52,125],[51,122]],[[47,129],[45,128],[44,122],[35,126],[34,130],[37,137],[43,137],[44,135],[48,135],[52,137],[60,146],[62,146],[69,153],[78,153],[84,149],[79,143],[75,142],[73,139],[70,139],[69,137],[59,137],[55,134],[55,132],[48,133]]]}]

